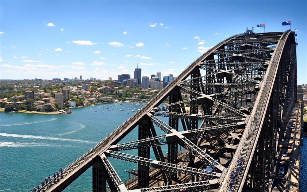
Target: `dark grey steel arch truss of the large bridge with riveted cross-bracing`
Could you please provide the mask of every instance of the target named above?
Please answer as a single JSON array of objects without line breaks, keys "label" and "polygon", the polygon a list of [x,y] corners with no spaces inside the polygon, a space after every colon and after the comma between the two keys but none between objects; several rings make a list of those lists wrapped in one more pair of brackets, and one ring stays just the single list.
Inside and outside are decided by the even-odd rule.
[{"label": "dark grey steel arch truss of the large bridge with riveted cross-bracing", "polygon": [[[296,100],[295,49],[290,30],[229,37],[38,191],[64,190],[91,166],[93,192],[270,191],[278,127]],[[137,126],[138,140],[120,143]],[[125,186],[109,159],[136,163],[136,185]]]}]

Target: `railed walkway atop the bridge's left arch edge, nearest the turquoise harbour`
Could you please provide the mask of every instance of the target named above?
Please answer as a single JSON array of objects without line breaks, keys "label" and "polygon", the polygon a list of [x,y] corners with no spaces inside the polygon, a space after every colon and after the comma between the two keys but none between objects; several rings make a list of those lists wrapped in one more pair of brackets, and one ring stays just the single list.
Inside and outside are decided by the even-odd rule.
[{"label": "railed walkway atop the bridge's left arch edge, nearest the turquoise harbour", "polygon": [[[96,147],[99,147],[99,145],[101,143],[103,143],[106,139],[109,139],[109,137],[111,135],[113,135],[114,132],[119,131],[123,125],[125,125],[127,122],[130,122],[130,120],[133,117],[139,117],[141,112],[144,112],[144,108],[148,108],[151,104],[153,104],[155,101],[157,101],[157,98],[161,95],[163,95],[167,90],[169,90],[170,88],[173,88],[174,84],[177,84],[178,81],[180,82],[180,79],[184,77],[184,75],[186,75],[188,73],[188,70],[192,69],[192,67],[197,63],[200,62],[199,60],[201,60],[204,56],[206,56],[208,53],[211,53],[214,49],[220,47],[220,45],[222,45],[222,43],[229,41],[230,39],[238,36],[238,35],[242,35],[243,33],[238,33],[235,34],[231,37],[228,37],[227,39],[220,41],[218,44],[216,44],[215,46],[213,46],[211,49],[209,49],[206,53],[202,54],[200,57],[198,57],[196,60],[194,60],[188,67],[186,67],[173,81],[171,81],[169,84],[167,84],[157,95],[155,95],[150,101],[148,101],[138,112],[136,112],[133,116],[131,116],[128,120],[126,120],[124,123],[122,123],[119,127],[117,127],[115,130],[113,130],[109,135],[107,135],[104,139],[102,139],[101,141],[99,141],[98,144],[96,144],[95,146],[93,146],[90,150],[87,150],[87,152],[85,152],[83,155],[80,156],[80,158],[76,159],[75,161],[72,161],[71,164],[68,164],[68,166],[66,166],[63,169],[63,173],[61,174],[62,177],[64,178],[63,174],[70,169],[70,167],[74,164],[76,164],[77,162],[79,162],[81,159],[85,158],[89,153],[91,153],[92,151],[95,150]],[[145,110],[146,110],[145,109]],[[129,123],[130,124],[130,123]],[[97,151],[98,152],[98,151]],[[90,158],[90,157],[89,157]],[[88,158],[87,158],[88,159]],[[65,175],[66,176],[66,175]],[[52,184],[52,182],[55,180],[56,178],[53,177],[53,175],[51,176],[51,179],[49,180],[49,182],[47,182],[46,184],[44,184],[43,186],[40,184],[40,189],[37,191],[41,191],[44,186],[49,186],[50,184]]]}]

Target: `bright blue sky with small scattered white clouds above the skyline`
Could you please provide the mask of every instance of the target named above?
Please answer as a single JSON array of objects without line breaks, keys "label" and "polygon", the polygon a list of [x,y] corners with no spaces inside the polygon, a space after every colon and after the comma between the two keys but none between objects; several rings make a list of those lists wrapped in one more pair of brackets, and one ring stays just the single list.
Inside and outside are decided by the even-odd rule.
[{"label": "bright blue sky with small scattered white clouds above the skyline", "polygon": [[[0,1],[0,78],[174,74],[246,27],[297,29],[297,83],[307,83],[307,1]],[[255,29],[256,33],[263,28]],[[197,37],[197,38],[194,38]]]}]

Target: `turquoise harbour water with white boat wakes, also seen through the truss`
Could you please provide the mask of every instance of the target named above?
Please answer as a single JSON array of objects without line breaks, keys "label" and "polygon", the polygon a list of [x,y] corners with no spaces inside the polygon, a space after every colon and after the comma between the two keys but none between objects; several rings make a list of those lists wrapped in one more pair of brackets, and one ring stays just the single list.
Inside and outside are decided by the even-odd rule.
[{"label": "turquoise harbour water with white boat wakes, also seen through the truss", "polygon": [[[98,105],[60,115],[0,113],[0,191],[27,191],[37,186],[46,176],[66,167],[132,116],[131,110],[138,109],[136,104],[132,107],[125,104],[130,108],[129,114],[126,108],[120,111],[120,104],[112,107],[107,104],[111,112],[104,108],[104,113]],[[163,133],[157,130],[157,134]],[[134,129],[120,143],[137,138],[138,131]],[[165,147],[163,151],[167,152]],[[137,153],[135,150],[124,152]],[[133,163],[111,158],[110,161],[122,179],[128,177],[125,170],[137,168]],[[90,168],[65,191],[91,191],[91,174]]]}]

